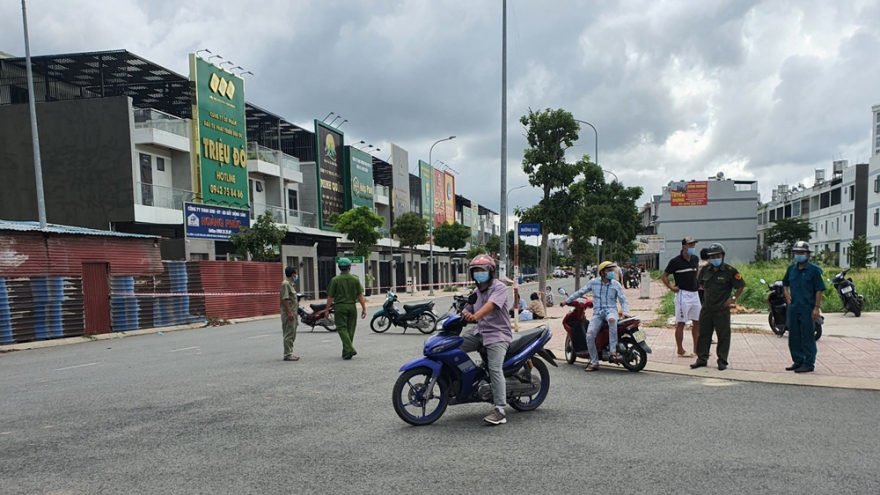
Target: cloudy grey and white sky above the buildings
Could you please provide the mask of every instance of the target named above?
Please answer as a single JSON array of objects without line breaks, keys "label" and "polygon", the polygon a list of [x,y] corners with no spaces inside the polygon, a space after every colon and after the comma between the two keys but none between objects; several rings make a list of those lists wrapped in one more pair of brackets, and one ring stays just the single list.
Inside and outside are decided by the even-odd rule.
[{"label": "cloudy grey and white sky above the buildings", "polygon": [[[310,128],[335,112],[348,142],[407,149],[459,172],[498,211],[501,0],[29,0],[33,55],[124,48],[186,74],[209,48],[251,70],[247,99]],[[866,163],[880,103],[876,0],[509,0],[509,188],[526,184],[519,117],[564,108],[599,132],[599,164],[659,194],[724,172],[812,183]],[[20,2],[0,2],[0,50],[24,55]],[[337,121],[338,124],[339,121]],[[594,154],[585,126],[569,152]],[[511,206],[537,201],[511,193]]]}]

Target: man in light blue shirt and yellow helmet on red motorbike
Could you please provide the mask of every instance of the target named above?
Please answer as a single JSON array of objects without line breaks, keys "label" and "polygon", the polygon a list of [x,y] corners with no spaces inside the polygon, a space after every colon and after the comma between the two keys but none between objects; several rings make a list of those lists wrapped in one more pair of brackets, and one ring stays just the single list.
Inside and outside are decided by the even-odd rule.
[{"label": "man in light blue shirt and yellow helmet on red motorbike", "polygon": [[587,327],[590,364],[584,368],[584,371],[599,369],[599,350],[596,349],[596,336],[606,321],[608,322],[608,348],[611,350],[611,359],[620,359],[617,354],[617,302],[620,301],[624,318],[629,318],[629,304],[626,302],[623,286],[616,279],[615,268],[617,265],[614,263],[603,261],[599,264],[598,277],[590,280],[587,285],[581,287],[564,302],[559,303],[560,306],[565,306],[587,292],[593,293],[593,318],[590,320],[590,326]]}]

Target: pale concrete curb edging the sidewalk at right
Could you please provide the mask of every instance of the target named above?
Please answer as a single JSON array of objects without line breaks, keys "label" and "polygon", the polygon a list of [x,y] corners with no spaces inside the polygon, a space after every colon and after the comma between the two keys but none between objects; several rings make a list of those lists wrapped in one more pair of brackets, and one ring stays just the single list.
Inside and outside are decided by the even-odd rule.
[{"label": "pale concrete curb edging the sidewalk at right", "polygon": [[[565,356],[564,349],[551,349],[554,354]],[[564,357],[563,357],[564,361]],[[612,370],[617,368],[610,368]],[[624,371],[620,368],[621,371]],[[644,371],[666,375],[691,376],[695,378],[707,378],[715,380],[728,380],[734,382],[771,383],[776,385],[797,385],[802,387],[841,388],[848,390],[876,390],[880,391],[880,380],[876,378],[857,378],[846,376],[827,375],[798,375],[795,373],[774,373],[772,371],[746,371],[728,368],[718,371],[711,367],[690,369],[688,366],[666,363],[652,363],[650,360],[645,365]]]}]

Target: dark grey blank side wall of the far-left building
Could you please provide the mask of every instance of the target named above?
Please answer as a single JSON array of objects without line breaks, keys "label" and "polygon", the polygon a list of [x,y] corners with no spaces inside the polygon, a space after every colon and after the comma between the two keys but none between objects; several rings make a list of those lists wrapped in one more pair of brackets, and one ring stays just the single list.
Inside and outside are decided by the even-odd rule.
[{"label": "dark grey blank side wall of the far-left building", "polygon": [[[132,114],[127,97],[37,104],[49,223],[107,229],[134,220]],[[0,212],[37,220],[28,105],[0,106]]]}]

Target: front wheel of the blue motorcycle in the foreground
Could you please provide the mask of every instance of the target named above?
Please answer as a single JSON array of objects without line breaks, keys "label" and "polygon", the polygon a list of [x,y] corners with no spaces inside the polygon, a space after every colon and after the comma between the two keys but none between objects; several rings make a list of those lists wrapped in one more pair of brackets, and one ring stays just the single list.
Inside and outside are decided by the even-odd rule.
[{"label": "front wheel of the blue motorcycle in the foreground", "polygon": [[437,380],[428,399],[430,382],[431,370],[426,367],[407,370],[397,378],[391,401],[400,419],[413,426],[429,425],[440,419],[449,405],[446,380]]}]

